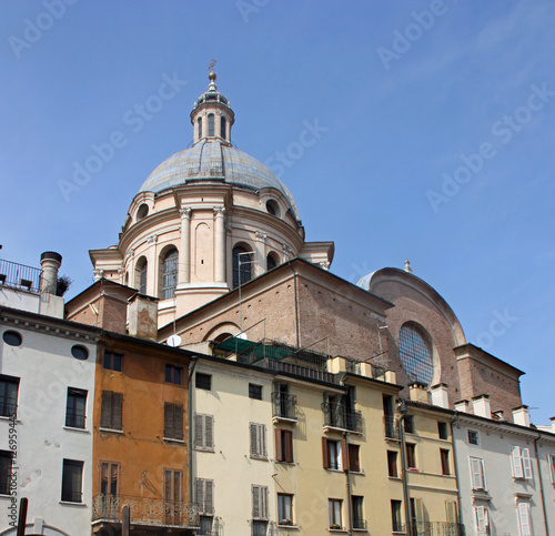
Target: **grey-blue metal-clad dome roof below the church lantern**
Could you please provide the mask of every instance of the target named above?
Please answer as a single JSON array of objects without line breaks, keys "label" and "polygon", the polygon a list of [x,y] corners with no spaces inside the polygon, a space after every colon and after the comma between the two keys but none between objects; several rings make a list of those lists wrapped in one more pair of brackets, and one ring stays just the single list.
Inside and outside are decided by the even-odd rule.
[{"label": "grey-blue metal-clad dome roof below the church lantern", "polygon": [[202,140],[164,160],[144,181],[140,192],[158,194],[202,182],[223,182],[254,191],[274,188],[285,196],[293,216],[299,220],[295,202],[285,185],[255,158],[218,139]]}]

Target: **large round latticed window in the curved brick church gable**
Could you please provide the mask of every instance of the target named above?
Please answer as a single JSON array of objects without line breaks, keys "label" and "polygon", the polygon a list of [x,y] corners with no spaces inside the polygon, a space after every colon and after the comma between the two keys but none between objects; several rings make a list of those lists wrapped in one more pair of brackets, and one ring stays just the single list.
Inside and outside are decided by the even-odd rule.
[{"label": "large round latticed window in the curved brick church gable", "polygon": [[432,352],[422,334],[412,326],[401,327],[398,353],[406,374],[413,382],[430,385],[434,374]]}]

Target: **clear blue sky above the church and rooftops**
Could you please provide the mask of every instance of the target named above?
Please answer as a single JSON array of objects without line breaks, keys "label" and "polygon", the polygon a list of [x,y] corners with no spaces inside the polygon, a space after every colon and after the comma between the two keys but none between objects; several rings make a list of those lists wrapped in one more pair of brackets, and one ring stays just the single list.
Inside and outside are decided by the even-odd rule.
[{"label": "clear blue sky above the church and rooftops", "polygon": [[[117,243],[142,182],[191,142],[215,58],[233,142],[272,164],[307,240],[335,242],[332,271],[356,282],[408,257],[470,342],[526,371],[546,423],[554,26],[551,1],[4,1],[1,256],[58,251],[70,295],[88,286],[88,251]],[[149,101],[168,78],[171,98]],[[299,150],[306,122],[319,138]],[[276,168],[279,152],[294,158]]]}]

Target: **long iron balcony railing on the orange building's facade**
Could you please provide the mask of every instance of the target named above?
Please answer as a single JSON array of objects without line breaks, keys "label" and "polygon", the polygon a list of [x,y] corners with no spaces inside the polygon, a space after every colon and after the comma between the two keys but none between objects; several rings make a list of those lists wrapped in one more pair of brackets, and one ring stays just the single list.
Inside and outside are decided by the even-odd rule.
[{"label": "long iron balcony railing on the orange building's facade", "polygon": [[92,498],[92,522],[121,523],[121,509],[125,505],[129,506],[133,525],[199,526],[199,509],[195,504],[125,495],[94,496]]}]

